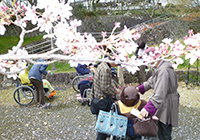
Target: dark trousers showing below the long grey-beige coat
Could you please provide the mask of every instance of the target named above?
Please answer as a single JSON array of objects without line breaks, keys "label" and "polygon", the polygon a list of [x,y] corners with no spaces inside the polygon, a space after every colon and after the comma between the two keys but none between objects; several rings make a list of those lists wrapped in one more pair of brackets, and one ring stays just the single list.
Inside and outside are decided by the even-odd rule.
[{"label": "dark trousers showing below the long grey-beige coat", "polygon": [[172,125],[158,122],[158,138],[159,140],[171,140]]}]

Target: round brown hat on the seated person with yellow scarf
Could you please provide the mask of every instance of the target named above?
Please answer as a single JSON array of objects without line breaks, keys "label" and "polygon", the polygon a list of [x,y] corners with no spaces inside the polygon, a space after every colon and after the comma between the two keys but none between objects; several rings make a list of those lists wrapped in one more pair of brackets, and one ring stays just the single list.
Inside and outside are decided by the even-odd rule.
[{"label": "round brown hat on the seated person with yellow scarf", "polygon": [[119,98],[124,105],[131,107],[138,103],[140,95],[134,86],[124,86],[122,87]]}]

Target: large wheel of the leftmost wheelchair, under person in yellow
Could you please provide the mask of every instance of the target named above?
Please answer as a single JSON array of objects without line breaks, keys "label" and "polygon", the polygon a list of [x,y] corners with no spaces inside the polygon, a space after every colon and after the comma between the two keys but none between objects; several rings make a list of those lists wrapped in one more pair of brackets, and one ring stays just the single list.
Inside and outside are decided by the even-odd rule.
[{"label": "large wheel of the leftmost wheelchair, under person in yellow", "polygon": [[14,100],[22,106],[28,106],[34,101],[34,91],[29,86],[19,86],[13,93]]}]

